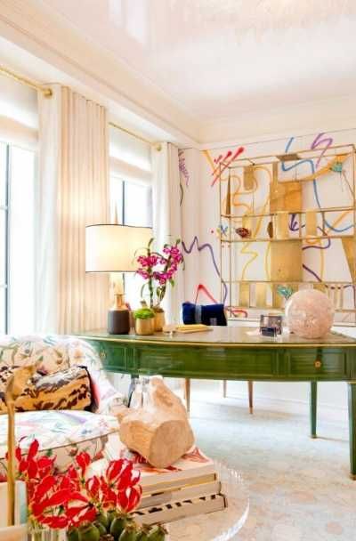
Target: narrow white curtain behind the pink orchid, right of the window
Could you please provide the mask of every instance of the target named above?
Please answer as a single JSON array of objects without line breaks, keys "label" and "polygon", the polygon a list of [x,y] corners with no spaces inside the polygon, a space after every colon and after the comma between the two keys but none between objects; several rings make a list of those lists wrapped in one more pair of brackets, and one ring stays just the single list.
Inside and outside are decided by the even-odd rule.
[{"label": "narrow white curtain behind the pink orchid, right of the window", "polygon": [[[161,250],[166,242],[182,239],[181,189],[178,149],[172,143],[162,143],[152,149],[153,233],[155,246]],[[184,273],[182,266],[169,287],[164,301],[166,320],[179,322],[184,301]]]}]

